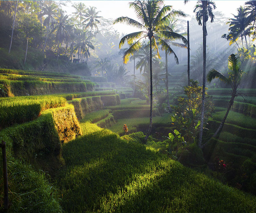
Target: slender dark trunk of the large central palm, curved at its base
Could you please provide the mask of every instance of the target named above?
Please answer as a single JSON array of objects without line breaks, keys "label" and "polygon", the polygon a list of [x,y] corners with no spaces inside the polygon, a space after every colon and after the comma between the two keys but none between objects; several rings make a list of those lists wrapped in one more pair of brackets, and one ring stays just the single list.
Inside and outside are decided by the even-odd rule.
[{"label": "slender dark trunk of the large central palm, curved at its base", "polygon": [[152,117],[153,117],[153,83],[152,83],[152,37],[149,35],[149,47],[150,47],[150,114],[149,114],[149,126],[148,126],[148,133],[145,137],[144,143],[147,142],[147,139],[150,135],[151,128],[152,128]]}]

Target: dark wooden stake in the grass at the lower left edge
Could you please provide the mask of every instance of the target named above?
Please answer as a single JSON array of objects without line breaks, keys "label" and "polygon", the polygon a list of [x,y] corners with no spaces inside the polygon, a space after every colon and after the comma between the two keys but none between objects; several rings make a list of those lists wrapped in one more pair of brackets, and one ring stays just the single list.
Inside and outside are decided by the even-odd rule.
[{"label": "dark wooden stake in the grass at the lower left edge", "polygon": [[7,162],[6,162],[6,151],[5,151],[5,142],[2,141],[0,144],[2,148],[2,156],[3,156],[3,174],[4,174],[4,210],[8,210],[8,178],[7,178]]}]

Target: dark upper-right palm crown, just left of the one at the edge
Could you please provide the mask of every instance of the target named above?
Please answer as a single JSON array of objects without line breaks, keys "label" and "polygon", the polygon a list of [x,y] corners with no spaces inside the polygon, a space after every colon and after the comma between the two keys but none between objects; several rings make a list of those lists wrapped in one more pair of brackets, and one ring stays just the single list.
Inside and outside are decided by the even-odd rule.
[{"label": "dark upper-right palm crown, just left of the one at the edge", "polygon": [[234,18],[230,18],[229,19],[230,21],[227,22],[227,24],[229,24],[230,26],[228,30],[233,35],[234,37],[233,40],[237,39],[238,37],[241,37],[242,45],[243,45],[243,38],[244,38],[246,43],[246,48],[248,49],[246,35],[248,35],[252,29],[252,26],[248,27],[251,21],[248,18],[246,18],[246,11],[245,11],[245,8],[243,8],[243,6],[240,6],[239,8],[237,8],[237,13],[238,13],[237,15],[232,14]]}]

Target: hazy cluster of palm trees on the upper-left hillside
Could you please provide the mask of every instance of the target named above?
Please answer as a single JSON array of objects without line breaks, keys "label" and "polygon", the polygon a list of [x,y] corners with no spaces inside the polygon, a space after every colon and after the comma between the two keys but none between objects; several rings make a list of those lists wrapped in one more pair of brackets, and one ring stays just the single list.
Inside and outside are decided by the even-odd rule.
[{"label": "hazy cluster of palm trees on the upper-left hillside", "polygon": [[[8,5],[7,2],[3,4]],[[87,63],[88,57],[90,56],[90,49],[94,49],[91,41],[94,33],[98,31],[97,25],[100,23],[99,18],[101,18],[98,15],[100,11],[97,11],[95,7],[87,8],[83,3],[73,4],[73,7],[75,8],[75,12],[70,16],[65,14],[59,5],[52,1],[23,1],[19,2],[19,4],[16,1],[9,53],[12,46],[16,12],[22,13],[20,8],[26,8],[28,15],[36,15],[42,26],[41,36],[43,37],[44,44],[41,47],[43,55],[47,46],[49,50],[52,50],[54,46],[58,59],[59,55],[62,54],[67,55],[72,61],[73,55],[76,54],[77,61],[81,60],[80,62],[82,62],[82,59],[86,58]],[[45,37],[44,31],[46,31]],[[27,35],[29,34],[30,32],[27,33]],[[29,40],[28,37],[27,40]],[[65,46],[65,48],[62,48],[62,46]]]}]

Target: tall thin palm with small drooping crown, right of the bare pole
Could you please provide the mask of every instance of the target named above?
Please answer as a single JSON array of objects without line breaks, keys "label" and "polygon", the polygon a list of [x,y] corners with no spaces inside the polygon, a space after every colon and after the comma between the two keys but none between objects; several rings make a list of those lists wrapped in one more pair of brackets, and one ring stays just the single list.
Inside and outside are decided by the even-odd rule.
[{"label": "tall thin palm with small drooping crown, right of the bare pole", "polygon": [[[211,23],[214,20],[214,15],[212,10],[215,9],[215,3],[213,1],[197,1],[194,12],[196,13],[196,20],[198,25],[203,25],[203,93],[202,93],[202,111],[201,111],[201,124],[200,124],[200,132],[199,132],[199,147],[202,144],[203,137],[203,125],[204,125],[204,102],[205,102],[205,74],[206,74],[206,22],[208,18],[211,18]],[[202,23],[203,20],[203,23]]]}]

